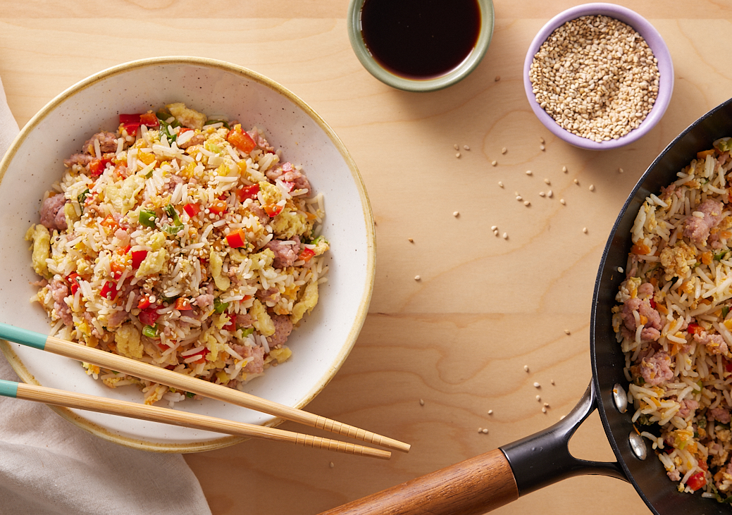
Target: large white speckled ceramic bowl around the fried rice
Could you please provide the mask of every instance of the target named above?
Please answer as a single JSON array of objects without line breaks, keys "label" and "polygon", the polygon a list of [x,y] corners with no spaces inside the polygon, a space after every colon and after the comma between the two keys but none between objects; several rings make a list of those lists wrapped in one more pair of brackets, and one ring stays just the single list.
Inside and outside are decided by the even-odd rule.
[{"label": "large white speckled ceramic bowl around the fried rice", "polygon": [[[225,113],[264,127],[288,161],[302,165],[325,196],[324,235],[329,281],[318,306],[293,332],[292,358],[247,384],[247,392],[304,407],[331,380],[353,347],[373,287],[375,238],[364,184],[330,127],[291,91],[248,69],[211,59],[163,57],[122,64],[92,75],[53,99],[20,131],[0,162],[0,321],[48,334],[45,312],[29,298],[36,287],[26,230],[38,222],[40,201],[64,171],[63,159],[99,129],[116,129],[119,113],[139,113],[185,102],[203,113]],[[111,389],[91,379],[78,361],[0,340],[26,381],[115,399],[142,401],[135,387]],[[53,408],[73,424],[107,440],[148,451],[192,452],[242,440],[194,429],[88,411]],[[179,403],[179,410],[275,426],[280,420],[212,399]]]}]

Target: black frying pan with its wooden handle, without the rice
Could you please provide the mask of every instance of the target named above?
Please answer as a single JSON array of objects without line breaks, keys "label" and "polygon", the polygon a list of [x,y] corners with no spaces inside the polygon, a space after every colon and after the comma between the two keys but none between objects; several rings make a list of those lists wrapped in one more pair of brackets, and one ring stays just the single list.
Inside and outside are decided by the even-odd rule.
[{"label": "black frying pan with its wooden handle, without the rice", "polygon": [[[651,193],[676,180],[676,173],[732,136],[732,99],[712,109],[674,139],[635,185],[613,225],[595,281],[590,321],[592,383],[572,413],[558,424],[495,451],[446,467],[405,484],[356,500],[321,515],[468,515],[481,514],[574,475],[602,474],[629,481],[657,515],[725,514],[730,507],[701,495],[681,494],[630,422],[633,409],[619,409],[617,386],[627,391],[624,356],[612,328],[611,309],[630,252],[630,230],[638,209]],[[622,408],[622,406],[620,405]],[[595,409],[600,412],[617,462],[575,459],[569,438]]]}]

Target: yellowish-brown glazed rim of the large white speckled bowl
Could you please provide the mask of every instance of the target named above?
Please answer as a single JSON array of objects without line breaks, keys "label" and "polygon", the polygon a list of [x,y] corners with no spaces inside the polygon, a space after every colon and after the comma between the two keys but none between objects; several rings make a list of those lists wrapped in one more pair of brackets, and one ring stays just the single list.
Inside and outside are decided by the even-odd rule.
[{"label": "yellowish-brown glazed rim of the large white speckled bowl", "polygon": [[[146,67],[158,67],[161,65],[181,65],[181,64],[193,64],[194,66],[201,66],[201,67],[210,67],[215,69],[223,69],[226,72],[232,72],[238,75],[242,75],[245,78],[248,78],[250,80],[254,80],[257,83],[260,83],[263,86],[268,87],[269,89],[272,89],[274,91],[277,91],[278,93],[282,94],[283,97],[286,97],[289,101],[293,102],[295,105],[297,105],[300,109],[307,114],[307,116],[310,117],[313,121],[315,121],[316,124],[318,124],[318,127],[320,127],[328,136],[328,138],[332,141],[332,143],[335,145],[337,151],[340,153],[341,157],[343,157],[344,162],[346,162],[346,165],[348,166],[348,170],[351,171],[351,176],[354,179],[354,183],[356,185],[356,189],[358,189],[359,192],[359,200],[361,201],[361,206],[363,209],[363,216],[364,216],[364,222],[365,222],[365,228],[366,228],[366,238],[367,238],[367,261],[366,261],[366,283],[365,283],[365,290],[364,293],[359,300],[359,307],[356,311],[356,319],[354,320],[353,325],[351,326],[350,331],[348,331],[348,337],[346,338],[346,342],[343,345],[343,347],[340,348],[339,353],[334,357],[332,364],[330,364],[329,369],[327,370],[326,374],[318,380],[318,383],[315,383],[310,388],[310,391],[307,392],[307,394],[299,400],[293,407],[297,409],[302,409],[310,403],[315,396],[317,396],[323,388],[326,387],[326,385],[332,380],[332,378],[335,376],[336,372],[340,369],[341,366],[343,366],[344,361],[346,361],[346,358],[348,357],[348,354],[353,349],[356,339],[359,336],[359,333],[361,331],[361,328],[363,324],[365,323],[365,319],[368,312],[368,307],[370,304],[371,295],[373,293],[373,285],[374,285],[374,279],[375,279],[375,272],[376,272],[376,232],[374,230],[373,225],[373,212],[371,210],[370,200],[368,198],[368,194],[366,192],[366,187],[363,182],[362,176],[359,173],[358,168],[356,167],[356,162],[354,162],[354,159],[351,157],[351,154],[346,149],[346,146],[343,144],[343,141],[338,138],[338,136],[335,134],[333,129],[324,121],[324,119],[321,118],[318,113],[315,113],[315,110],[310,107],[305,101],[300,99],[296,94],[294,94],[289,89],[286,89],[284,86],[282,86],[280,83],[275,82],[275,80],[272,80],[265,75],[261,75],[258,72],[254,72],[251,69],[239,66],[238,64],[232,64],[227,61],[220,61],[217,59],[209,59],[209,58],[203,58],[203,57],[195,57],[195,56],[160,56],[160,57],[152,57],[152,58],[146,58],[146,59],[137,59],[134,61],[127,61],[122,64],[117,64],[113,67],[109,67],[106,69],[102,69],[100,72],[96,72],[89,77],[80,80],[78,83],[75,83],[74,85],[70,86],[69,88],[65,89],[64,91],[61,91],[56,97],[51,99],[50,102],[48,102],[43,108],[41,108],[29,121],[28,123],[20,129],[20,133],[18,136],[15,137],[15,139],[12,141],[10,145],[10,149],[8,149],[7,153],[4,155],[4,157],[0,161],[0,181],[5,176],[5,173],[10,166],[10,162],[12,162],[13,157],[15,157],[15,154],[20,149],[20,146],[23,144],[23,142],[26,140],[28,135],[44,120],[46,119],[49,114],[61,104],[61,102],[64,102],[69,97],[72,97],[73,95],[79,93],[80,91],[83,91],[90,86],[93,86],[95,83],[98,83],[102,80],[105,80],[106,78],[112,77],[114,75],[119,75],[124,72],[128,72],[131,69],[138,69],[138,68],[146,68]],[[0,350],[2,353],[4,353],[7,360],[10,362],[10,365],[12,366],[12,369],[15,371],[15,373],[20,377],[21,380],[23,380],[26,383],[34,384],[34,385],[40,385],[40,383],[36,380],[36,378],[29,372],[29,370],[26,368],[26,366],[23,364],[23,361],[18,358],[15,351],[12,349],[9,342],[0,339]],[[249,440],[247,437],[238,437],[238,436],[225,436],[220,437],[214,440],[203,440],[198,442],[190,442],[190,443],[160,443],[160,442],[149,442],[145,440],[140,440],[138,438],[133,437],[126,437],[122,435],[114,434],[108,429],[105,429],[102,426],[99,426],[98,424],[95,424],[94,422],[89,421],[87,418],[78,415],[78,413],[75,413],[74,411],[70,410],[67,407],[57,407],[57,406],[49,406],[52,410],[54,410],[56,413],[58,413],[62,418],[65,418],[67,421],[70,421],[75,426],[80,427],[81,429],[84,429],[87,432],[90,432],[92,435],[95,435],[97,437],[102,438],[103,440],[108,440],[113,443],[118,443],[122,446],[127,446],[130,448],[136,448],[142,451],[153,451],[153,452],[160,452],[160,453],[192,453],[192,452],[201,452],[201,451],[211,451],[213,449],[217,448],[223,448],[227,446],[234,445],[235,443],[242,442],[244,440]],[[269,427],[275,427],[283,423],[283,419],[281,418],[272,418],[269,421],[267,421],[265,424],[262,424],[264,426]]]}]

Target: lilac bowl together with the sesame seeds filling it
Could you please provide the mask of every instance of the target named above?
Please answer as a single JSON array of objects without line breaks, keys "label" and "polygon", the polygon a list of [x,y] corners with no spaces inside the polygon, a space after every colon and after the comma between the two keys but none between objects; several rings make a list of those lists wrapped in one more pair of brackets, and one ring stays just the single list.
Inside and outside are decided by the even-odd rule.
[{"label": "lilac bowl together with the sesame seeds filling it", "polygon": [[549,20],[531,42],[523,72],[539,121],[582,149],[638,140],[661,119],[673,91],[662,37],[615,4],[583,4]]}]

